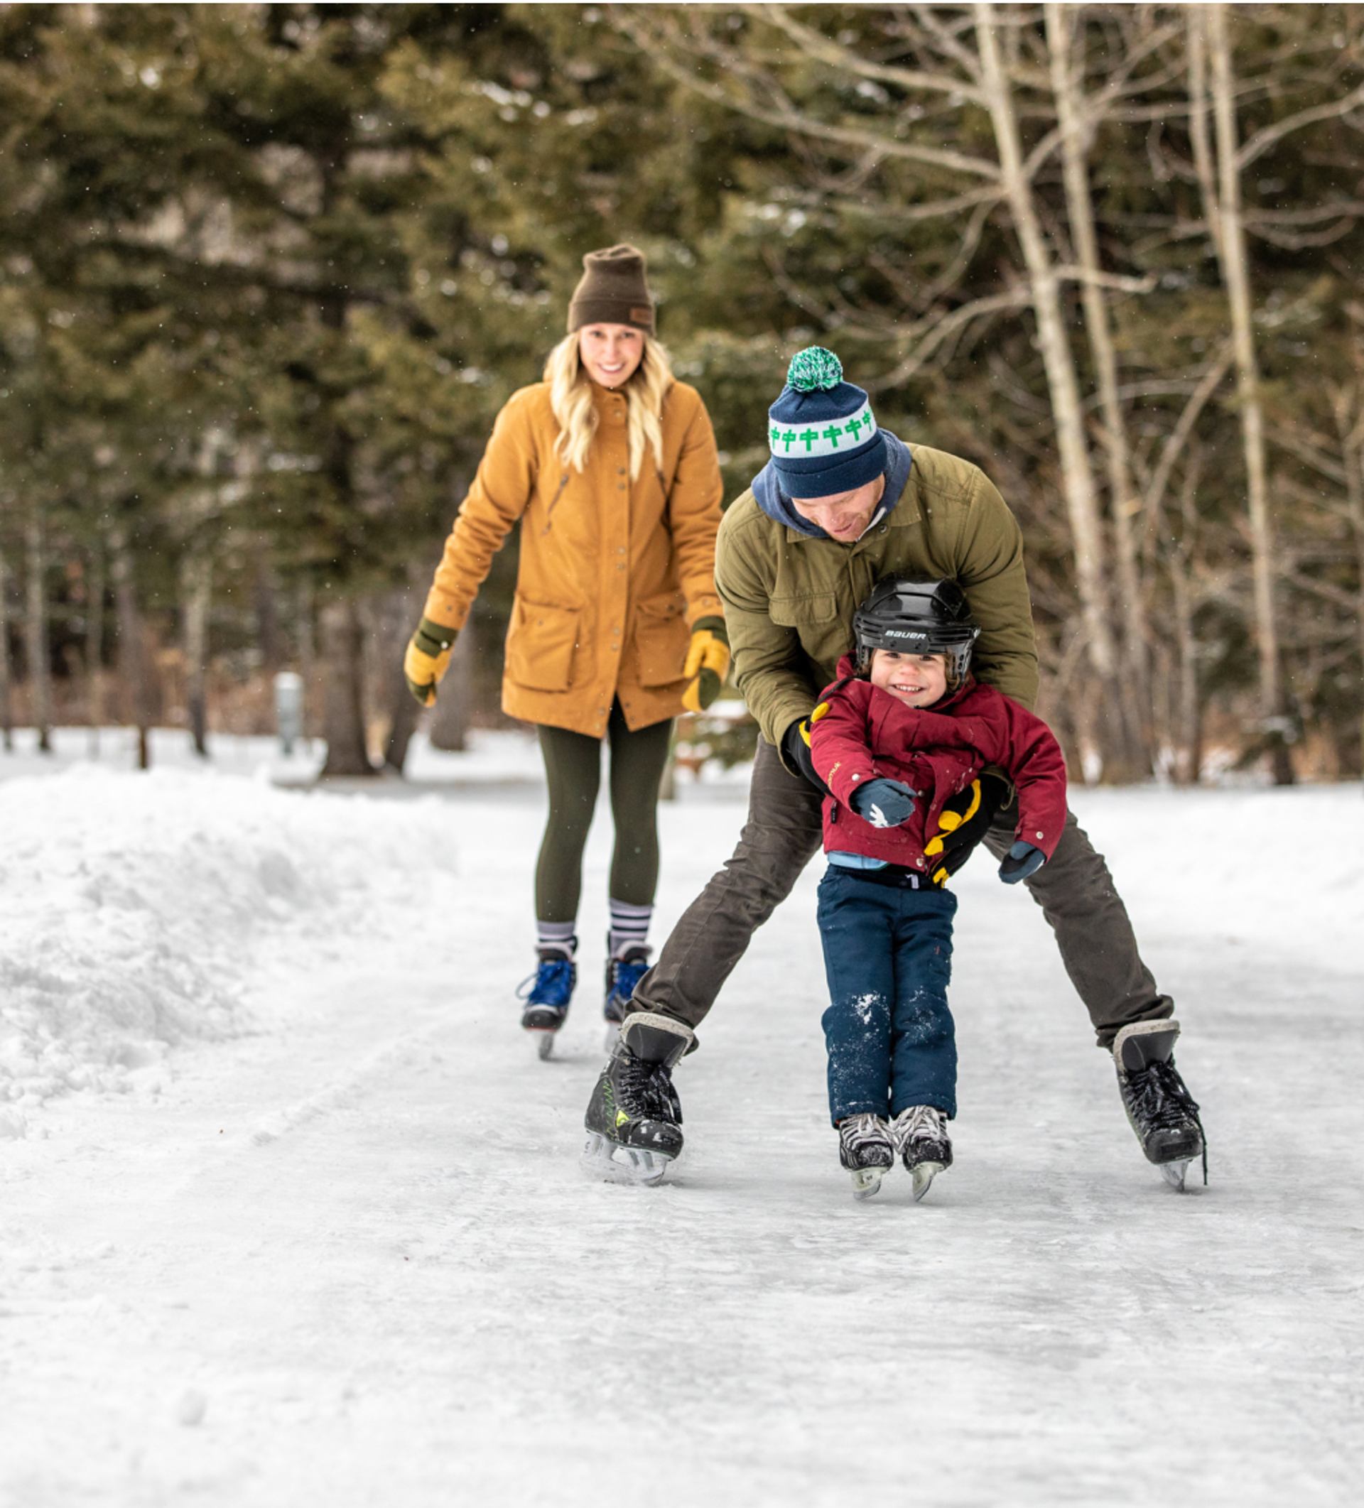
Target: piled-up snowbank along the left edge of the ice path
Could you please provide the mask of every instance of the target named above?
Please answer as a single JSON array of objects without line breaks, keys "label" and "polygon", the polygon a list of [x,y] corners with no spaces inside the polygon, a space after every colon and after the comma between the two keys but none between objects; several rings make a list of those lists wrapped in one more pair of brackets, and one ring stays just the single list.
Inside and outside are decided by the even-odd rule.
[{"label": "piled-up snowbank along the left edge of the ice path", "polygon": [[0,784],[0,1137],[24,1128],[5,1101],[121,1089],[249,1028],[266,938],[395,929],[453,869],[438,813],[211,772]]}]

